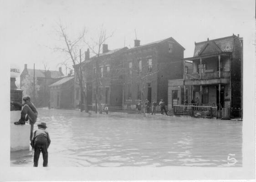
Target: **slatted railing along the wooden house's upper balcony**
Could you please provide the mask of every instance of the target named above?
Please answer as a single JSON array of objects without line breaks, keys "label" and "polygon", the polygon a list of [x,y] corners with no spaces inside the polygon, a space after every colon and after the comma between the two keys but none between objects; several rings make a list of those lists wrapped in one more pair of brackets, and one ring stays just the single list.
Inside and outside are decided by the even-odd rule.
[{"label": "slatted railing along the wooden house's upper balcony", "polygon": [[209,80],[215,78],[229,78],[230,71],[215,71],[207,73],[185,73],[185,80]]}]

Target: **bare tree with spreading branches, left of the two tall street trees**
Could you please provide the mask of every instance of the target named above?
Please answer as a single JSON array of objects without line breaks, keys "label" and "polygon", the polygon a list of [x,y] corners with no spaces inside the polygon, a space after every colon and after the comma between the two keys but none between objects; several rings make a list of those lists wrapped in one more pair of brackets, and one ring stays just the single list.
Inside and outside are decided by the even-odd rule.
[{"label": "bare tree with spreading branches, left of the two tall street trees", "polygon": [[84,105],[84,110],[88,112],[88,107],[87,107],[87,96],[86,96],[86,91],[84,90],[85,88],[85,81],[83,79],[82,75],[82,58],[81,58],[81,43],[82,40],[84,40],[84,36],[86,34],[86,29],[84,28],[82,30],[82,33],[75,38],[74,40],[71,40],[71,38],[67,34],[66,28],[59,24],[59,30],[58,33],[61,37],[61,40],[64,41],[65,46],[64,47],[57,47],[55,48],[58,51],[62,51],[65,54],[69,56],[69,58],[65,61],[63,61],[63,65],[68,65],[68,63],[71,61],[71,64],[77,74],[77,79],[79,82],[79,87],[80,87],[80,93],[81,93],[81,101],[80,101],[80,111],[83,111],[83,105]]}]

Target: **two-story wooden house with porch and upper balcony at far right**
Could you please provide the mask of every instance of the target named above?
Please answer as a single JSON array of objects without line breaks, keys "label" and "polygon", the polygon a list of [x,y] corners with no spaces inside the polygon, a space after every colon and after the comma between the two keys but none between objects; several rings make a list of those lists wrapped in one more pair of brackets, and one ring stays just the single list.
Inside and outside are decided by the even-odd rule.
[{"label": "two-story wooden house with porch and upper balcony at far right", "polygon": [[[192,73],[184,72],[184,98],[199,106],[230,108],[233,116],[241,111],[242,38],[232,35],[195,42]],[[192,89],[186,92],[186,87]],[[189,94],[189,96],[186,96]]]}]

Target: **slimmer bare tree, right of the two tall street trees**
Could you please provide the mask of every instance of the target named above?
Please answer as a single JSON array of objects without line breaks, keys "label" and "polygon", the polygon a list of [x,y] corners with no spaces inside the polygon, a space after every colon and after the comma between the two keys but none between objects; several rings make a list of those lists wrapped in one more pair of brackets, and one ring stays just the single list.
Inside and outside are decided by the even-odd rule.
[{"label": "slimmer bare tree, right of the two tall street trees", "polygon": [[[100,92],[99,92],[99,61],[100,61],[100,52],[102,50],[102,45],[106,42],[106,40],[108,40],[110,37],[113,36],[113,32],[110,33],[109,35],[107,35],[106,30],[102,26],[100,27],[98,36],[97,36],[97,40],[92,40],[93,41],[93,46],[90,45],[88,42],[86,42],[86,44],[88,45],[89,49],[92,51],[92,53],[94,53],[96,56],[93,58],[93,60],[95,61],[95,65],[96,65],[96,71],[95,71],[95,112],[97,113],[97,106],[99,107],[99,113],[102,113],[102,106],[101,106],[101,102],[100,102]],[[96,47],[96,48],[95,48]]]}]

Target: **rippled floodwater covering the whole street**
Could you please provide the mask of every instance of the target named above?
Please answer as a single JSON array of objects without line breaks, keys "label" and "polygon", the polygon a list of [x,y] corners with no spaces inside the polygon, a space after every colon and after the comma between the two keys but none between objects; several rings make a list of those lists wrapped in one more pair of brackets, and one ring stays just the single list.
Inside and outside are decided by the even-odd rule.
[{"label": "rippled floodwater covering the whole street", "polygon": [[[242,166],[242,121],[77,110],[38,112],[36,123],[46,122],[51,138],[50,167]],[[11,152],[10,166],[32,167],[33,153],[31,149]]]}]

